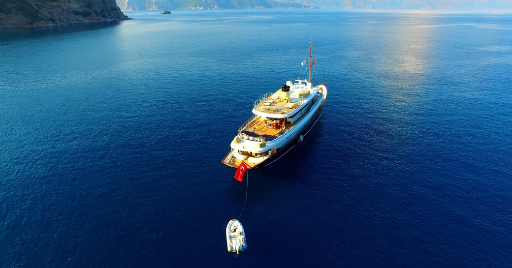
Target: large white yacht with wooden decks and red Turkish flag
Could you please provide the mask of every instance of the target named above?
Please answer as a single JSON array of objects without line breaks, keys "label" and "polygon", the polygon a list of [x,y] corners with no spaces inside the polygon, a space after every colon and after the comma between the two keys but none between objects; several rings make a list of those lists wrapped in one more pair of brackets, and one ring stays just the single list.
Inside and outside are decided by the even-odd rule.
[{"label": "large white yacht with wooden decks and red Turkish flag", "polygon": [[[307,80],[286,81],[279,90],[255,100],[253,115],[238,129],[222,163],[238,168],[241,178],[246,170],[268,166],[292,149],[296,150],[322,115],[327,87],[325,82],[311,83],[311,68],[315,65],[311,42],[309,58],[302,65],[305,63],[309,64]],[[242,181],[241,178],[237,180]]]}]

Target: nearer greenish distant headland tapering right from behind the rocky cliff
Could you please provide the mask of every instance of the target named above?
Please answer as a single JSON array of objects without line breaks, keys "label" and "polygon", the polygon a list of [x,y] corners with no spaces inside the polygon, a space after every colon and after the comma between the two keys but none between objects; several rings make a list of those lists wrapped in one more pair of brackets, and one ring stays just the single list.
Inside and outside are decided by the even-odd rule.
[{"label": "nearer greenish distant headland tapering right from behind the rocky cliff", "polygon": [[164,9],[305,8],[273,0],[116,0],[123,11]]}]

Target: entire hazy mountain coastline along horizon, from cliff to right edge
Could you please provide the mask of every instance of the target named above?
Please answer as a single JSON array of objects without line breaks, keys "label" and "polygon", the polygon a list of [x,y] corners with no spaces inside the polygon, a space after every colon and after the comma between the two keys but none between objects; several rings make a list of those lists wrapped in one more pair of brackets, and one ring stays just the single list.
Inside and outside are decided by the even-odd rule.
[{"label": "entire hazy mountain coastline along horizon, from cliff to right edge", "polygon": [[116,0],[121,10],[341,8],[410,10],[512,9],[512,0]]}]

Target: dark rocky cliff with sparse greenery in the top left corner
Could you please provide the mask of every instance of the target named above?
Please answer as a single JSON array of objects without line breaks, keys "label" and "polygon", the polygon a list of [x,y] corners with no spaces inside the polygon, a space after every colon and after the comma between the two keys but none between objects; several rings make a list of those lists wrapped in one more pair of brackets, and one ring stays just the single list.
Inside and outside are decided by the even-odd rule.
[{"label": "dark rocky cliff with sparse greenery in the top left corner", "polygon": [[0,28],[128,19],[115,0],[0,0]]}]

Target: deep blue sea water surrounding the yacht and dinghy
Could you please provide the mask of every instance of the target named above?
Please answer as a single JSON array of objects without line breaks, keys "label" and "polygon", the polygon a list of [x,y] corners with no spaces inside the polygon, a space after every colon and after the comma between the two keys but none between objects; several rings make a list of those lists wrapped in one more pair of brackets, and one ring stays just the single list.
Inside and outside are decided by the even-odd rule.
[{"label": "deep blue sea water surrounding the yacht and dinghy", "polygon": [[[512,15],[127,14],[0,31],[1,267],[512,267]],[[324,114],[236,258],[220,161],[310,38]]]}]

